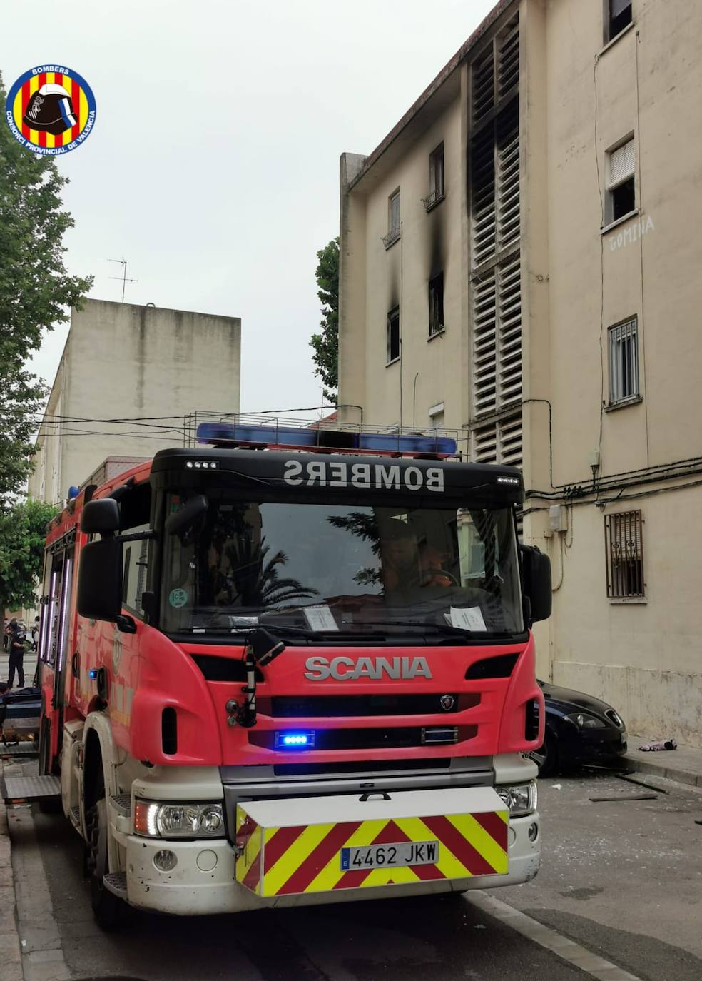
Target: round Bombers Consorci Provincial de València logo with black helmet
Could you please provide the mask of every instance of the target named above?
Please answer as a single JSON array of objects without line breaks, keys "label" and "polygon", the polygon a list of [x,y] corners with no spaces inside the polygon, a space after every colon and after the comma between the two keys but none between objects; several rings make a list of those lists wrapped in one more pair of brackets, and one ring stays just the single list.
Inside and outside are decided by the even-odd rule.
[{"label": "round Bombers Consorci Provincial de Val\u00e8ncia logo with black helmet", "polygon": [[95,96],[73,69],[37,65],[10,89],[5,119],[25,149],[58,157],[89,136],[95,125]]}]

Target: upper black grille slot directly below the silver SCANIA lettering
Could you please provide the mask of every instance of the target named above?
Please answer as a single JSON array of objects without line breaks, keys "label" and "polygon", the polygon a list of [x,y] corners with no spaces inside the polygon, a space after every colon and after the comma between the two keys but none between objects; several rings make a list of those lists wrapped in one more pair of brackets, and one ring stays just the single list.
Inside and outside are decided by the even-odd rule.
[{"label": "upper black grille slot directly below the silver SCANIA lettering", "polygon": [[[463,695],[275,695],[258,697],[258,710],[276,719],[374,715],[447,715],[473,708],[479,692]],[[443,702],[443,703],[442,703]],[[444,707],[444,705],[448,707]]]}]

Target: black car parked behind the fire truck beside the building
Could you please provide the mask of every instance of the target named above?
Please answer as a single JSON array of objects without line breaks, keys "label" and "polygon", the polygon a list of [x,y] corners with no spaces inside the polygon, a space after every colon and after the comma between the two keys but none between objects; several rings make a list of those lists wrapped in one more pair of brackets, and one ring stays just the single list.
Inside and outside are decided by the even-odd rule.
[{"label": "black car parked behind the fire truck beside the building", "polygon": [[606,701],[545,681],[538,684],[546,702],[546,735],[530,756],[540,777],[580,763],[614,762],[627,751],[627,727]]}]

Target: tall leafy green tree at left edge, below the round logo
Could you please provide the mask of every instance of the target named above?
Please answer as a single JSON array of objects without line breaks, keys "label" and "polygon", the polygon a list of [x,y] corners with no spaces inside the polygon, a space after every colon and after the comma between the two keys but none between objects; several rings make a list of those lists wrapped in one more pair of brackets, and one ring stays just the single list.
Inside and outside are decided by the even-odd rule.
[{"label": "tall leafy green tree at left edge, below the round logo", "polygon": [[[3,106],[6,97],[0,77]],[[64,234],[74,225],[61,208],[66,183],[52,157],[35,156],[0,125],[0,513],[31,470],[31,437],[46,396],[26,358],[92,284],[92,277],[69,276],[64,264]]]}]

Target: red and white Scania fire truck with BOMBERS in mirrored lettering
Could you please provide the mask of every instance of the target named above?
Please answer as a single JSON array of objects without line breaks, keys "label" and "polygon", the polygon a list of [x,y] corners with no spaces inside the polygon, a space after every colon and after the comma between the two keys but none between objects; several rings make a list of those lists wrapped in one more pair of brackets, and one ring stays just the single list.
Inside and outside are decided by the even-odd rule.
[{"label": "red and white Scania fire truck with BOMBERS in mirrored lettering", "polygon": [[551,580],[520,471],[435,435],[198,438],[47,538],[33,780],[98,919],[527,882]]}]

